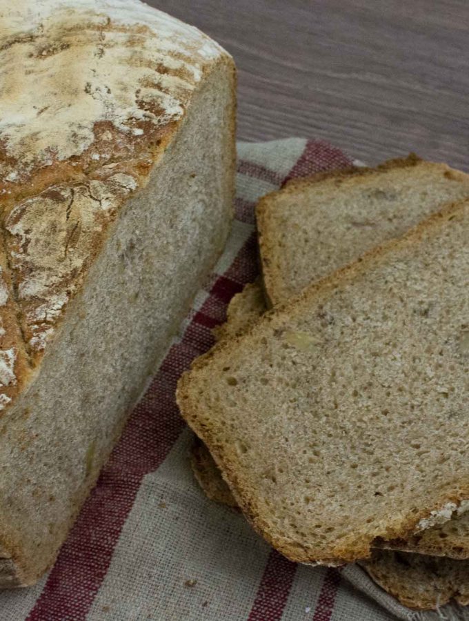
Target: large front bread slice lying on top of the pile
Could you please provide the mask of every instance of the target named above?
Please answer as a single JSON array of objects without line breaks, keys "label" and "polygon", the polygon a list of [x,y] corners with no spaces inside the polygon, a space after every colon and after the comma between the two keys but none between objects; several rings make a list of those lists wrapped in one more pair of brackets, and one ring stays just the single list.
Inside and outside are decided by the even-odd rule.
[{"label": "large front bread slice lying on top of the pile", "polygon": [[183,375],[181,412],[288,558],[366,557],[469,497],[468,235],[448,207]]}]

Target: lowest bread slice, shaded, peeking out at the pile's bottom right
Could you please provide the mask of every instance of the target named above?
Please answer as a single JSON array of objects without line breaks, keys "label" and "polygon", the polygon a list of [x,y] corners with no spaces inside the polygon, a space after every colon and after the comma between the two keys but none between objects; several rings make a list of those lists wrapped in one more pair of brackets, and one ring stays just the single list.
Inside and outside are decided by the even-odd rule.
[{"label": "lowest bread slice, shaded, peeking out at the pile's bottom right", "polygon": [[[469,562],[405,552],[375,551],[359,562],[385,591],[404,606],[436,609],[450,600],[469,604]],[[442,619],[445,617],[441,617]]]}]

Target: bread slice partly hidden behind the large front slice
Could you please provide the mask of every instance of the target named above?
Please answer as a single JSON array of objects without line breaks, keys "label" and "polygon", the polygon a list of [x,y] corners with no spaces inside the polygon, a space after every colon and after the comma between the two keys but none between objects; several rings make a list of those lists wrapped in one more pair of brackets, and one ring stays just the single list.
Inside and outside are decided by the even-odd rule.
[{"label": "bread slice partly hidden behind the large front slice", "polygon": [[257,206],[270,302],[285,302],[444,204],[466,197],[469,175],[415,155],[377,168],[292,179]]}]

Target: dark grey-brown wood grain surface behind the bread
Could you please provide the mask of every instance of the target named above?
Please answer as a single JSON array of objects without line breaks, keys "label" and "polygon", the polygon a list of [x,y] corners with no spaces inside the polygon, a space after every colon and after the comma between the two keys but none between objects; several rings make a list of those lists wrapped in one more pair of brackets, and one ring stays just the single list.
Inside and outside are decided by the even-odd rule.
[{"label": "dark grey-brown wood grain surface behind the bread", "polygon": [[321,137],[370,164],[469,170],[468,0],[147,0],[239,68],[238,137]]}]

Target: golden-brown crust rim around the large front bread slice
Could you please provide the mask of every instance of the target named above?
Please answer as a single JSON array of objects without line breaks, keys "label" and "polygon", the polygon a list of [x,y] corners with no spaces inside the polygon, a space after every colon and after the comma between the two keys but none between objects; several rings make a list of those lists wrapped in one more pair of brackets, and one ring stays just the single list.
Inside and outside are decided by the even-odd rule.
[{"label": "golden-brown crust rim around the large front bread slice", "polygon": [[[191,366],[191,370],[187,371],[181,376],[177,387],[177,403],[179,405],[181,414],[186,419],[188,424],[192,427],[194,432],[206,443],[208,450],[210,451],[215,462],[219,466],[219,469],[223,471],[226,480],[229,482],[230,489],[234,495],[235,500],[241,507],[241,510],[246,515],[248,520],[256,531],[261,533],[272,546],[278,549],[281,553],[290,558],[290,560],[311,563],[311,562],[323,562],[328,564],[330,558],[323,558],[322,552],[319,549],[304,549],[303,546],[296,542],[291,542],[280,538],[277,533],[270,531],[268,522],[262,517],[262,509],[259,505],[259,499],[249,490],[245,482],[239,477],[235,460],[232,459],[230,452],[226,451],[226,447],[217,442],[217,436],[212,429],[203,424],[198,415],[199,398],[198,395],[192,394],[192,377],[197,374],[198,369],[204,368],[210,360],[217,356],[224,354],[230,354],[230,351],[234,351],[240,343],[248,343],[250,335],[252,333],[261,332],[263,326],[270,322],[280,323],[282,319],[290,319],[292,315],[301,313],[304,305],[310,304],[315,297],[323,295],[329,291],[335,290],[351,282],[359,275],[366,273],[375,264],[386,261],[388,254],[399,250],[399,248],[405,248],[406,246],[412,246],[418,243],[425,235],[431,234],[433,230],[437,231],[441,226],[444,226],[448,221],[462,217],[465,210],[469,208],[469,201],[461,201],[459,203],[451,204],[443,208],[439,213],[430,216],[425,221],[421,222],[414,228],[410,229],[406,235],[399,239],[392,239],[389,242],[377,246],[365,253],[356,262],[337,270],[332,275],[321,279],[319,282],[308,286],[297,297],[290,300],[288,303],[281,306],[277,306],[275,311],[269,311],[255,326],[248,328],[246,333],[238,337],[234,337],[226,342],[219,343],[215,348],[205,355],[197,358]],[[469,498],[469,482],[467,484],[461,484],[458,489],[451,493],[440,493],[432,501],[431,506],[426,506],[412,515],[409,515],[406,520],[401,522],[399,528],[389,527],[383,532],[383,538],[386,540],[399,538],[406,540],[412,536],[417,530],[419,522],[423,519],[430,517],[432,511],[441,509],[442,506],[448,502],[454,502],[459,504],[461,500]],[[341,562],[352,562],[359,558],[369,558],[372,552],[371,536],[363,536],[360,540],[356,537],[350,542],[345,541],[339,546],[333,549],[334,556],[332,560]]]}]

